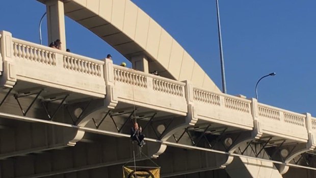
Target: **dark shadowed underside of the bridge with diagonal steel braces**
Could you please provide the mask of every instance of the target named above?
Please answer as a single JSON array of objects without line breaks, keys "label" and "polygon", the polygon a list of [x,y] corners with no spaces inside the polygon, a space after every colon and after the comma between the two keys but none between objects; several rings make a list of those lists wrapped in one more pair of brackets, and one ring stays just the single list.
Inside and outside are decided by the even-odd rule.
[{"label": "dark shadowed underside of the bridge with diagonal steel braces", "polygon": [[[5,98],[7,93],[8,90],[2,92],[1,98]],[[59,108],[61,101],[54,103],[54,101],[43,99],[45,97],[42,95],[36,98],[36,95],[36,91],[32,93],[24,90],[22,93],[12,90],[5,103],[0,106],[0,175],[2,178],[120,177],[123,165],[140,167],[158,165],[161,167],[161,177],[282,177],[271,162],[235,157],[226,167],[225,164],[230,158],[227,155],[190,149],[181,145],[168,146],[159,157],[150,158],[159,152],[161,143],[147,141],[147,144],[139,149],[136,143],[131,142],[128,136],[124,135],[128,134],[133,124],[130,120],[131,115],[134,114],[133,108],[118,104],[118,107],[110,113],[107,107],[103,107],[102,112],[98,112],[95,108],[102,108],[103,99],[84,100],[77,103],[65,99],[65,105]],[[78,108],[82,110],[78,112]],[[48,110],[48,114],[45,110]],[[55,111],[58,111],[57,114],[50,119],[49,117]],[[82,114],[83,111],[98,114]],[[144,134],[149,138],[161,138],[168,125],[172,125],[171,117],[175,119],[173,121],[175,123],[181,122],[179,120],[182,118],[182,116],[144,108],[137,111],[135,117],[139,119],[138,122],[143,125]],[[23,116],[25,112],[28,117]],[[98,118],[97,115],[100,113],[102,117]],[[84,135],[81,135],[81,129],[75,128],[74,125],[80,120],[80,115],[93,116],[86,125],[91,130],[85,130]],[[66,124],[73,125],[73,128]],[[94,128],[98,130],[93,130]],[[223,138],[227,137],[221,135],[225,130],[227,128],[216,124],[210,126],[198,123],[187,128],[185,134],[182,131],[177,132],[168,140],[173,142],[177,140],[175,143],[183,145],[193,144],[218,149],[222,147],[220,140],[225,140]],[[118,133],[118,135],[102,133],[102,131]],[[226,135],[231,137],[239,133],[242,131],[230,129]],[[240,145],[239,150],[254,158],[269,160],[269,156],[274,156],[272,153],[269,154],[269,148],[276,150],[271,149],[273,144],[268,148],[261,148],[262,144],[249,146],[245,143]],[[136,155],[135,165],[134,154]],[[314,159],[312,157],[307,159],[309,166],[312,166]],[[306,175],[304,177],[313,177],[312,171],[297,168],[290,170],[283,174],[283,177],[302,174]]]}]

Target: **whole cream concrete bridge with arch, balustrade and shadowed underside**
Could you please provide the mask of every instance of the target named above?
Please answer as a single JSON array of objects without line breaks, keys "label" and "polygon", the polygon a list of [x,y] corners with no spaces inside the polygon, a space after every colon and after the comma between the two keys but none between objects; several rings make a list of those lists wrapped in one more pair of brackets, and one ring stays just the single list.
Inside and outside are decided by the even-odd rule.
[{"label": "whole cream concrete bridge with arch, balustrade and shadowed underside", "polygon": [[[156,158],[162,177],[314,177],[316,118],[309,113],[221,93],[128,0],[40,2],[49,42],[61,39],[62,50],[0,34],[1,178],[119,177],[139,152],[128,135],[135,119],[146,135],[142,151]],[[65,52],[64,14],[133,69]]]}]

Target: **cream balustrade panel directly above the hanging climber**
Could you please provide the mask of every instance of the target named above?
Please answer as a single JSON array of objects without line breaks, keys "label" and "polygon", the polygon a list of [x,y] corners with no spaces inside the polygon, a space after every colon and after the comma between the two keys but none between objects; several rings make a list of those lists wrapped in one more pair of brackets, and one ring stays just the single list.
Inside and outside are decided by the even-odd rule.
[{"label": "cream balustrade panel directly above the hanging climber", "polygon": [[185,83],[117,65],[113,68],[119,101],[187,115]]}]

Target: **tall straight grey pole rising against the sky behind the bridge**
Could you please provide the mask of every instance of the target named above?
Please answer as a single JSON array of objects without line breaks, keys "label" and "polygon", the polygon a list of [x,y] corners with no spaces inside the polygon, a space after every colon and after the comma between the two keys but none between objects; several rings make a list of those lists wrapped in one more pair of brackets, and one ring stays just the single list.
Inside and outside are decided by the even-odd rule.
[{"label": "tall straight grey pole rising against the sky behind the bridge", "polygon": [[216,10],[217,10],[217,27],[218,27],[218,36],[219,36],[219,42],[220,42],[220,56],[221,56],[221,69],[222,69],[222,91],[223,93],[226,93],[224,55],[223,55],[223,46],[222,46],[221,21],[220,21],[220,11],[218,7],[218,0],[216,0]]}]

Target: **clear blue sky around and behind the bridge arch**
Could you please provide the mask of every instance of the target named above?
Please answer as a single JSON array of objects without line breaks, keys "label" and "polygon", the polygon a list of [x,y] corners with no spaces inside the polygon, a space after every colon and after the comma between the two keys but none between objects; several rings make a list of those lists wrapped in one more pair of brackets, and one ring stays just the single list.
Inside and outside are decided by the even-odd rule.
[{"label": "clear blue sky around and behind the bridge arch", "polygon": [[[213,1],[133,0],[171,34],[221,88],[216,4]],[[316,116],[316,1],[220,0],[227,93],[255,97],[260,103]],[[18,12],[18,13],[16,13]],[[2,1],[0,30],[39,43],[38,23],[45,6],[35,0]],[[42,24],[47,44],[46,19]],[[115,49],[66,17],[67,47],[102,59]]]}]

